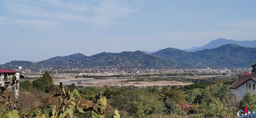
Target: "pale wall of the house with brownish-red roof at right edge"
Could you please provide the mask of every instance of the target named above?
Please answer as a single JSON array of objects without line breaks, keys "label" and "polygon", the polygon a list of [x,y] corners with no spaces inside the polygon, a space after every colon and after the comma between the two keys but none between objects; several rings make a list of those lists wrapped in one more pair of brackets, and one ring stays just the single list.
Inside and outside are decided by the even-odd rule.
[{"label": "pale wall of the house with brownish-red roof at right edge", "polygon": [[251,85],[251,89],[246,89],[246,83],[256,83],[252,79],[244,82],[240,86],[236,87],[236,89],[230,89],[231,94],[236,94],[236,100],[240,101],[242,97],[247,93],[247,92],[253,92],[256,94],[256,90],[253,90],[253,86]]}]

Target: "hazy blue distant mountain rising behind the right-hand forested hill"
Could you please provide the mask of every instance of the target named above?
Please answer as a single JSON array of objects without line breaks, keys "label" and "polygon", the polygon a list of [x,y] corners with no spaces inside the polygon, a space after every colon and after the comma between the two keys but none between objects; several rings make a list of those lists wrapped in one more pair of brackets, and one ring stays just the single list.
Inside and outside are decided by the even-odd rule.
[{"label": "hazy blue distant mountain rising behind the right-hand forested hill", "polygon": [[228,40],[228,39],[224,39],[224,38],[218,38],[216,40],[212,40],[211,42],[207,43],[204,46],[201,47],[197,47],[197,46],[193,46],[190,49],[184,49],[184,51],[186,52],[195,52],[198,50],[203,50],[203,49],[214,49],[217,48],[219,46],[225,45],[225,44],[237,44],[239,46],[244,46],[244,47],[250,47],[250,48],[256,48],[256,40],[243,40],[243,41],[237,41],[237,40]]}]

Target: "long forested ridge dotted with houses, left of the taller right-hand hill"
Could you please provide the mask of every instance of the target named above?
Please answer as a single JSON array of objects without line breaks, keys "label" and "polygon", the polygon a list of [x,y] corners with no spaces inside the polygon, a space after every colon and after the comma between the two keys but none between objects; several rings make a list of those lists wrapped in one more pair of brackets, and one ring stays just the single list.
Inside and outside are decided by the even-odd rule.
[{"label": "long forested ridge dotted with houses, left of the taller right-hand hill", "polygon": [[148,55],[145,52],[135,51],[135,52],[102,52],[90,57],[83,54],[73,54],[69,56],[58,56],[50,58],[48,60],[43,60],[38,63],[31,63],[29,61],[11,61],[0,65],[0,68],[14,69],[17,66],[22,66],[23,68],[52,68],[52,69],[67,69],[67,68],[140,68],[140,69],[161,69],[169,68],[169,63],[166,60],[156,58],[152,55]]}]

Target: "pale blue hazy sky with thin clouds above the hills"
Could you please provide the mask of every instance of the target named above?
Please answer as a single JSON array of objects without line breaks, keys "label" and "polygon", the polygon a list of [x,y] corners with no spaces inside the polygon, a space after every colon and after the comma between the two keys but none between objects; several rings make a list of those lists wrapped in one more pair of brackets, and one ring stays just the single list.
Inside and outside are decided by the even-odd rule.
[{"label": "pale blue hazy sky with thin clouds above the hills", "polygon": [[0,0],[0,64],[256,40],[256,0]]}]

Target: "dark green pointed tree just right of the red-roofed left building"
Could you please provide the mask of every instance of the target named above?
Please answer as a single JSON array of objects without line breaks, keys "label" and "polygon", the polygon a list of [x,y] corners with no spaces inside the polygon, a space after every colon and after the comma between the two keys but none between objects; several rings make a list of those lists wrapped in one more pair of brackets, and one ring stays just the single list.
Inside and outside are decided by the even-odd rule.
[{"label": "dark green pointed tree just right of the red-roofed left building", "polygon": [[43,77],[37,78],[35,81],[32,82],[33,88],[44,91],[44,92],[50,92],[52,90],[53,82],[52,77],[49,74],[49,72],[45,72]]}]

